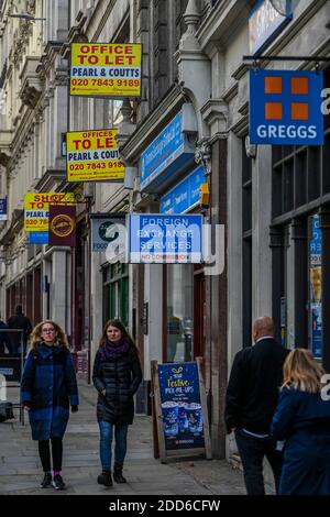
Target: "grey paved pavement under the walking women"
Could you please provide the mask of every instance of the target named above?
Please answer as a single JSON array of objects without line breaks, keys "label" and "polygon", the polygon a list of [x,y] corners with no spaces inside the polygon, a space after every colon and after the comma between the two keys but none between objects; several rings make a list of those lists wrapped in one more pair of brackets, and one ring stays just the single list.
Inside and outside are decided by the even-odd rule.
[{"label": "grey paved pavement under the walking women", "polygon": [[[40,488],[43,472],[37,442],[31,439],[29,422],[16,418],[0,424],[0,494],[12,495],[243,495],[243,475],[224,460],[172,458],[167,463],[154,459],[152,419],[136,415],[129,428],[123,474],[127,484],[105,487],[97,484],[100,473],[99,429],[96,420],[96,391],[79,385],[80,406],[70,414],[64,438],[63,479],[66,491]],[[11,397],[14,398],[13,392]],[[28,417],[26,417],[28,420]]]}]

